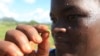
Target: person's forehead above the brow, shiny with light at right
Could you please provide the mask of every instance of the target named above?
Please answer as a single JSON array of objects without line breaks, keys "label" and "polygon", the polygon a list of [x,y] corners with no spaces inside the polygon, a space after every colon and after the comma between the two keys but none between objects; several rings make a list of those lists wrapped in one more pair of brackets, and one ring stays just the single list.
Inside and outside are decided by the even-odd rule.
[{"label": "person's forehead above the brow, shiny with light at right", "polygon": [[97,13],[100,10],[99,0],[51,0],[51,12],[59,13],[66,7],[75,7],[87,12]]}]

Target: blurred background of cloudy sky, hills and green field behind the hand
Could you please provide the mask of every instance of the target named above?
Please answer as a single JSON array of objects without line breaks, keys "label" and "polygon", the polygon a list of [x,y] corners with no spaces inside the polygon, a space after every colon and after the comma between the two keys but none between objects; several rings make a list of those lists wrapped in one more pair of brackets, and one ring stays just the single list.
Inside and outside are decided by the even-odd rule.
[{"label": "blurred background of cloudy sky, hills and green field behind the hand", "polygon": [[[0,0],[0,40],[18,24],[46,24],[51,29],[50,0]],[[50,35],[50,45],[54,41]]]}]

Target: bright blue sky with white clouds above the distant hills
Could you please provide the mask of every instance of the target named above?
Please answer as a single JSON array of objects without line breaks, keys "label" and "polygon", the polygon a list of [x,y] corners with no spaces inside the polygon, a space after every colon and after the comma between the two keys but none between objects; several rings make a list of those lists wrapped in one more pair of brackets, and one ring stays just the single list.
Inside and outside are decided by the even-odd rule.
[{"label": "bright blue sky with white clouds above the distant hills", "polygon": [[0,18],[11,17],[17,21],[35,20],[51,22],[50,0],[0,0]]}]

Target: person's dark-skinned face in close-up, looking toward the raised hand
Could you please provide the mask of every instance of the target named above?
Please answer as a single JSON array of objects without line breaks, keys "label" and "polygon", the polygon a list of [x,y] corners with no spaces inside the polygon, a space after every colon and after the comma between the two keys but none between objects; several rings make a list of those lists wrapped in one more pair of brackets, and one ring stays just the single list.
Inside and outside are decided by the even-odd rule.
[{"label": "person's dark-skinned face in close-up, looking toward the raised hand", "polygon": [[57,56],[100,56],[99,0],[52,0]]}]

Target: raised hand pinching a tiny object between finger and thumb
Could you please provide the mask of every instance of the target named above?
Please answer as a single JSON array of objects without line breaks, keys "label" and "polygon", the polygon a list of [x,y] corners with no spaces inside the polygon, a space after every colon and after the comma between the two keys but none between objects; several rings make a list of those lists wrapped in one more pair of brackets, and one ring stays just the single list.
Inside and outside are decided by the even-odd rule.
[{"label": "raised hand pinching a tiny object between finger and thumb", "polygon": [[[49,31],[45,25],[18,25],[0,41],[0,56],[49,56]],[[35,52],[30,43],[38,45]]]}]

